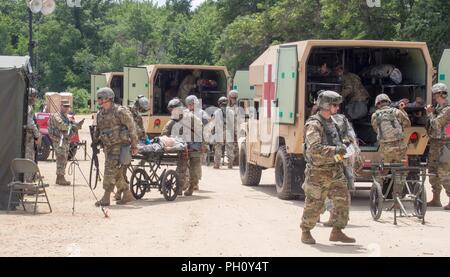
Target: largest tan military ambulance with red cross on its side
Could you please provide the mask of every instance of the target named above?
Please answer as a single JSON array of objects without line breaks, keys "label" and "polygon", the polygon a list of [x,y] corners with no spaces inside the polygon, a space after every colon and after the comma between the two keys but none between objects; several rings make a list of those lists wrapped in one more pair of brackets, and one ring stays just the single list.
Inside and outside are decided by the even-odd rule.
[{"label": "largest tan military ambulance with red cross on its side", "polygon": [[[370,94],[369,113],[352,122],[365,160],[379,161],[382,158],[370,123],[375,97],[384,92],[393,102],[408,98],[411,103],[420,97],[423,100],[421,105],[406,108],[412,127],[406,130],[405,141],[410,162],[423,160],[428,143],[424,106],[432,100],[433,68],[425,43],[299,41],[271,46],[250,65],[249,83],[255,88],[255,98],[246,137],[240,145],[239,166],[243,185],[257,186],[262,170],[275,168],[279,198],[304,196],[301,185],[305,170],[305,121],[312,113],[320,90],[341,90],[339,77],[310,74],[323,64],[329,68],[342,65],[347,71],[358,74]],[[383,64],[394,65],[401,71],[400,83],[392,82],[386,76],[364,74],[368,69]],[[341,111],[345,105],[346,101]],[[369,182],[371,179],[362,174],[357,181]]]}]

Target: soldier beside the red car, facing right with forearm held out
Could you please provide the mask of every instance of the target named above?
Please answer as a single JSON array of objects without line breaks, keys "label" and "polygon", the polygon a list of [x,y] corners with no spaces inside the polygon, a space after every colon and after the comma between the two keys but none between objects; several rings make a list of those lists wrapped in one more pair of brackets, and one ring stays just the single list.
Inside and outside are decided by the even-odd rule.
[{"label": "soldier beside the red car, facing right with forearm held out", "polygon": [[69,112],[70,102],[63,101],[61,111],[53,113],[48,121],[48,134],[56,155],[56,184],[61,186],[70,186],[70,182],[64,177],[69,158],[70,136],[83,124],[82,122],[76,123],[73,118],[69,118]]}]

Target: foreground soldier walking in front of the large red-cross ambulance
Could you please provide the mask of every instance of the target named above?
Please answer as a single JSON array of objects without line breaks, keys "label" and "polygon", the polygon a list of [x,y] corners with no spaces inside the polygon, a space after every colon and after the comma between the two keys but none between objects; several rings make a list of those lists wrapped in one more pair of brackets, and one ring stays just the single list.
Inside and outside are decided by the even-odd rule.
[{"label": "foreground soldier walking in front of the large red-cross ambulance", "polygon": [[335,216],[330,241],[355,242],[342,232],[349,217],[349,193],[341,162],[347,150],[331,118],[341,102],[342,97],[334,91],[320,93],[317,101],[320,111],[305,124],[306,200],[300,224],[301,240],[305,244],[316,243],[310,231],[319,220],[327,195],[332,198]]}]

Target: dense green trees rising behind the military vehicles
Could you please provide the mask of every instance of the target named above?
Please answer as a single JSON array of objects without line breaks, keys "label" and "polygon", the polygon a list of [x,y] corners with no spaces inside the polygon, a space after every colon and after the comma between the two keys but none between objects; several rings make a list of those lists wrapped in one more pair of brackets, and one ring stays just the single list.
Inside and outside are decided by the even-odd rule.
[{"label": "dense green trees rising behind the military vehicles", "polygon": [[[425,41],[436,65],[450,47],[450,1],[382,0],[57,1],[33,15],[38,89],[87,103],[90,75],[152,63],[221,64],[246,69],[270,45],[305,39]],[[0,1],[0,55],[28,54],[26,1]],[[75,95],[74,93],[74,95]],[[86,101],[85,101],[86,100]]]}]

